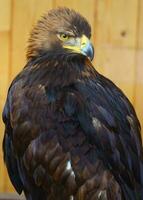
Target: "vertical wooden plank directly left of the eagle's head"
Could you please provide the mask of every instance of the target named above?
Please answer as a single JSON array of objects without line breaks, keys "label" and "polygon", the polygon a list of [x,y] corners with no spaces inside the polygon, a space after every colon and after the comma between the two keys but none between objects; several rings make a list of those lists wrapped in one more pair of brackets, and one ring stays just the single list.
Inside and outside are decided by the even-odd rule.
[{"label": "vertical wooden plank directly left of the eagle's head", "polygon": [[11,79],[25,65],[27,41],[35,21],[51,8],[52,0],[13,0]]}]

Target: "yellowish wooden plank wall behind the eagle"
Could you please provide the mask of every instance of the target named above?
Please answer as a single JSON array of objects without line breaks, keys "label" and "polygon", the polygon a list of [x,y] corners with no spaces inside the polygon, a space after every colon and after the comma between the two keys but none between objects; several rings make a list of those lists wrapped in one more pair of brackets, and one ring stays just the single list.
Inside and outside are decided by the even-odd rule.
[{"label": "yellowish wooden plank wall behind the eagle", "polygon": [[[8,85],[23,68],[27,38],[45,11],[67,6],[91,23],[95,67],[134,104],[143,125],[143,0],[0,0],[0,113]],[[0,122],[0,144],[3,124]],[[13,191],[0,150],[0,192]]]}]

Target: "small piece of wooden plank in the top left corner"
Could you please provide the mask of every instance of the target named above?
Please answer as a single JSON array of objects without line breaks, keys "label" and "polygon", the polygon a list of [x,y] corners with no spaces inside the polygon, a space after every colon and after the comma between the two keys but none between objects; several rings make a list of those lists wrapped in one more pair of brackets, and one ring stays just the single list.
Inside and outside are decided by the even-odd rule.
[{"label": "small piece of wooden plank in the top left corner", "polygon": [[0,31],[10,30],[11,0],[0,0]]}]

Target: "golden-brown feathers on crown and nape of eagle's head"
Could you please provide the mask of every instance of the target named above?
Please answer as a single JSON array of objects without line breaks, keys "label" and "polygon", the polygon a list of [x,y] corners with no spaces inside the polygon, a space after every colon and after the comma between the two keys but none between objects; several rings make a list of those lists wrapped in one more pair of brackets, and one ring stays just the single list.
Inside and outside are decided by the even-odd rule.
[{"label": "golden-brown feathers on crown and nape of eagle's head", "polygon": [[55,9],[49,11],[31,32],[29,39],[27,58],[39,56],[39,51],[52,50],[55,46],[60,46],[59,40],[55,33],[69,33],[74,36],[81,36],[83,33],[89,38],[91,28],[87,20],[74,10]]}]

